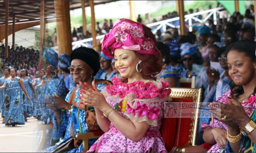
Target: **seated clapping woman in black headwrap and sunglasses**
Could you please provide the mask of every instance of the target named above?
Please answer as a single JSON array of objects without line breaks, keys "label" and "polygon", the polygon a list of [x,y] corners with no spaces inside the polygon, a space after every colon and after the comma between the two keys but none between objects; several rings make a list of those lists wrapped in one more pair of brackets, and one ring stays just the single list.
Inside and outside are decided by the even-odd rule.
[{"label": "seated clapping woman in black headwrap and sunglasses", "polygon": [[[105,88],[106,85],[111,84],[111,82],[106,80],[94,80],[94,76],[100,69],[99,54],[95,50],[87,47],[79,47],[73,50],[71,53],[70,62],[71,66],[68,69],[75,83],[91,84],[94,81],[98,90],[101,90]],[[60,130],[58,133],[63,134],[63,132],[66,131],[62,141],[67,140],[70,136],[75,137],[80,133],[100,130],[100,127],[97,125],[96,121],[95,109],[80,103],[82,94],[82,89],[80,88],[81,86],[77,85],[76,88],[72,89],[67,94],[65,100],[58,95],[53,97],[53,107],[56,109],[55,117],[57,120],[62,119],[62,122],[59,122]],[[67,113],[61,110],[66,110]],[[94,139],[89,140],[89,146],[95,141],[96,140]],[[56,147],[57,145],[47,148],[45,151],[50,152]],[[83,144],[81,141],[75,139],[75,148],[72,148],[72,150],[69,152],[82,151]]]}]

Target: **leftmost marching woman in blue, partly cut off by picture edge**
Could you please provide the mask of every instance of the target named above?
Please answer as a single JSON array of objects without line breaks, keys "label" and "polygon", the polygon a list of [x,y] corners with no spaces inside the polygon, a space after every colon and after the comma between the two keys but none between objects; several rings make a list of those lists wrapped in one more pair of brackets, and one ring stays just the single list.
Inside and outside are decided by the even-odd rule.
[{"label": "leftmost marching woman in blue, partly cut off by picture edge", "polygon": [[[6,79],[11,79],[11,76],[10,76],[10,69],[6,66],[4,67],[3,69],[4,71],[4,75],[3,77],[0,78],[0,86],[1,85],[4,85]],[[5,103],[4,103],[4,100],[5,100],[5,89],[1,89],[0,87],[0,109],[1,109],[1,116],[3,118],[3,121],[2,123],[4,124],[5,123]]]}]

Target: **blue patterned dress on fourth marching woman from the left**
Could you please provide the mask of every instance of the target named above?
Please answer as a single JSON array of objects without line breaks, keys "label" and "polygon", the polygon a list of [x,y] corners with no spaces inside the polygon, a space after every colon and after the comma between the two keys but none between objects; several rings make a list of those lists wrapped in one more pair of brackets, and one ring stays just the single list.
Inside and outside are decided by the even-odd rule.
[{"label": "blue patterned dress on fourth marching woman from the left", "polygon": [[[40,84],[41,83],[40,78],[36,78],[35,82],[36,82],[36,85]],[[35,99],[35,107],[34,107],[34,116],[37,116],[37,115],[42,115],[42,106],[39,101],[40,95],[42,93],[42,87],[38,87],[35,90],[36,90],[36,99]]]}]

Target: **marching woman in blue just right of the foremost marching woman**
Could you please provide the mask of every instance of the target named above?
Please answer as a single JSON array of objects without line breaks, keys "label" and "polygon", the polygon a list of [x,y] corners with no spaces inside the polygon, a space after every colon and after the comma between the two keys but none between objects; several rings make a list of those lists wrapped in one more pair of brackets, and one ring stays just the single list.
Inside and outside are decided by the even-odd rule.
[{"label": "marching woman in blue just right of the foremost marching woman", "polygon": [[[25,94],[22,93],[22,98],[23,98],[23,110],[24,110],[24,118],[25,118],[25,122],[27,121],[27,117],[31,117],[34,113],[34,109],[33,109],[33,102],[35,101],[36,98],[36,91],[32,85],[33,81],[30,77],[28,77],[28,71],[26,69],[22,69],[21,71],[21,79],[23,81],[23,85],[29,95],[29,97],[31,97],[31,101],[28,101],[25,98]],[[34,93],[34,97],[32,96]]]}]

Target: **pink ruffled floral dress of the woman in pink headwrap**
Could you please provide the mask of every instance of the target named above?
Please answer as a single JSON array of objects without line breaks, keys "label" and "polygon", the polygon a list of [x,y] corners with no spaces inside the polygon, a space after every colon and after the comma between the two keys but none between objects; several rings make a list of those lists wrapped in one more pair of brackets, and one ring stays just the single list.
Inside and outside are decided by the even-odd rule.
[{"label": "pink ruffled floral dress of the woman in pink headwrap", "polygon": [[113,85],[102,90],[107,102],[131,121],[147,121],[150,127],[139,141],[132,141],[111,123],[88,152],[166,152],[159,129],[163,118],[164,102],[171,93],[167,82],[160,80],[134,81],[126,84],[114,77]]}]

